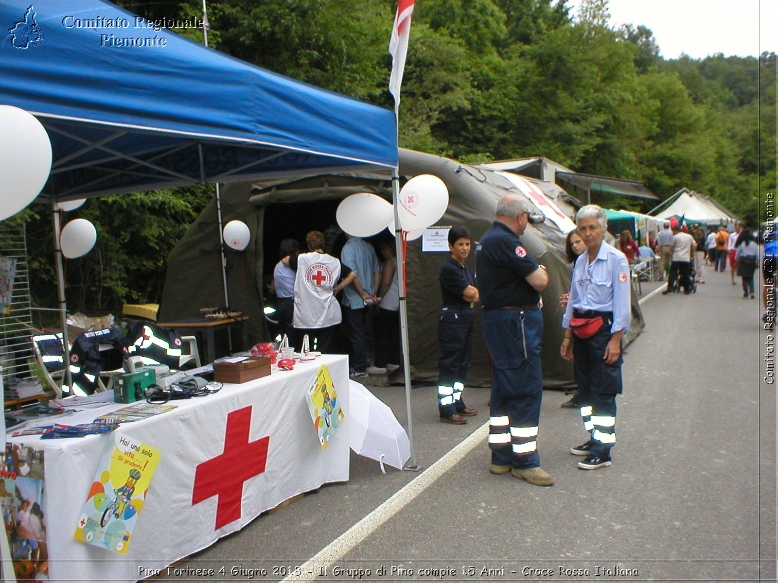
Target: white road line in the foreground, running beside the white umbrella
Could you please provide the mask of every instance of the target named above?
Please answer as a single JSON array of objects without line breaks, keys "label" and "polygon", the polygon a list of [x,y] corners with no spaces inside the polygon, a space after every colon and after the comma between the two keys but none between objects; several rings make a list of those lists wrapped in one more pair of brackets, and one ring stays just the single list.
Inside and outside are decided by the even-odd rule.
[{"label": "white road line in the foreground, running beside the white umbrella", "polygon": [[467,456],[477,445],[480,445],[487,435],[489,435],[489,421],[486,421],[485,424],[468,435],[454,449],[438,459],[432,466],[429,466],[425,472],[419,474],[418,477],[415,477],[408,484],[405,484],[384,504],[381,504],[370,512],[369,515],[366,515],[349,530],[325,546],[324,549],[316,553],[314,557],[300,567],[300,571],[297,571],[300,575],[289,575],[282,581],[314,581],[315,578],[311,578],[311,573],[317,573],[322,565],[334,563],[335,560],[343,557],[359,543],[362,543],[380,525],[383,525],[384,522],[387,522],[387,520],[405,508],[415,497],[432,486],[435,480],[457,465],[464,456]]}]

